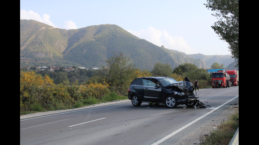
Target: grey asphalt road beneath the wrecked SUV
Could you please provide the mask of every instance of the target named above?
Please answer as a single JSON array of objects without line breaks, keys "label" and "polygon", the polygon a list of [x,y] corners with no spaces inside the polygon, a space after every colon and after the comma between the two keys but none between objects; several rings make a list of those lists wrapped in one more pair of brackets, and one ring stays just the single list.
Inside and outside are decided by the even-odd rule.
[{"label": "grey asphalt road beneath the wrecked SUV", "polygon": [[200,89],[198,99],[210,108],[174,109],[131,102],[20,119],[20,145],[166,145],[175,144],[238,102],[239,86]]}]

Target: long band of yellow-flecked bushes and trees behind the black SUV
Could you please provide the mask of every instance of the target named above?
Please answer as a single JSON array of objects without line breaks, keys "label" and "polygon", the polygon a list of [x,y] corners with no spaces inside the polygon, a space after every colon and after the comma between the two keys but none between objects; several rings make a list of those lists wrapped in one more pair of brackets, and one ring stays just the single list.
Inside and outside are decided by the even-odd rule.
[{"label": "long band of yellow-flecked bushes and trees behind the black SUV", "polygon": [[128,99],[129,84],[137,77],[169,76],[177,81],[188,77],[192,83],[197,79],[199,88],[211,87],[210,74],[192,63],[172,69],[158,62],[148,71],[135,68],[122,53],[114,53],[106,62],[107,67],[89,72],[20,70],[20,115]]}]

